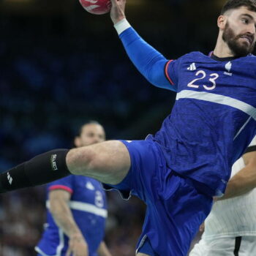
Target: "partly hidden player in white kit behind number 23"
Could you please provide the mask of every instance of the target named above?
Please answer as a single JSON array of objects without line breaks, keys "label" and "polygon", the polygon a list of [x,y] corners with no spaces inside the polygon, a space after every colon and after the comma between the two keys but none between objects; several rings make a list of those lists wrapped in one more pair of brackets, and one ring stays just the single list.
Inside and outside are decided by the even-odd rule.
[{"label": "partly hidden player in white kit behind number 23", "polygon": [[189,256],[256,255],[256,137],[233,165],[231,177]]}]

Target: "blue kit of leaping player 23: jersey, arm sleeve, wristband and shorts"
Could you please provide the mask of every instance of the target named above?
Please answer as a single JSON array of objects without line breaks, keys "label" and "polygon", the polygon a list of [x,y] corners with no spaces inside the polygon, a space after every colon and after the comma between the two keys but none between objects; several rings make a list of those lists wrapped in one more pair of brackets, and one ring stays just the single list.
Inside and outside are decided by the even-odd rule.
[{"label": "blue kit of leaping player 23: jersey, arm sleeve, wristband and shorts", "polygon": [[147,205],[138,252],[185,256],[212,196],[225,192],[233,162],[256,133],[256,59],[195,52],[168,61],[127,27],[125,20],[116,25],[129,58],[150,83],[177,97],[156,135],[121,140],[131,167],[110,187]]}]

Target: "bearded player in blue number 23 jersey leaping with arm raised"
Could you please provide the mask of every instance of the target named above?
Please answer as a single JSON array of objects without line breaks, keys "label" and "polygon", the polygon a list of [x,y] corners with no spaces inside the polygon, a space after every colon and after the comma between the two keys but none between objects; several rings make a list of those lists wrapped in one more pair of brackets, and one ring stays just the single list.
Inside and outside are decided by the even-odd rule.
[{"label": "bearded player in blue number 23 jersey leaping with arm raised", "polygon": [[256,1],[227,1],[214,50],[176,60],[132,29],[125,0],[111,1],[110,15],[129,58],[154,86],[176,92],[172,113],[146,140],[111,140],[34,157],[2,173],[0,191],[70,173],[96,178],[146,203],[137,255],[184,256],[213,197],[225,193],[231,166],[256,134]]}]

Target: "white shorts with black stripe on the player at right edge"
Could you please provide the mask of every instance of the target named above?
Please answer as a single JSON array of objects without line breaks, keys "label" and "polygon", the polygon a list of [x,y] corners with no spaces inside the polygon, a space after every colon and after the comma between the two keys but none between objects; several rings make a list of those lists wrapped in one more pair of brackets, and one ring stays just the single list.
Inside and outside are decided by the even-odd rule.
[{"label": "white shorts with black stripe on the player at right edge", "polygon": [[256,236],[201,239],[189,256],[252,256],[256,255]]}]

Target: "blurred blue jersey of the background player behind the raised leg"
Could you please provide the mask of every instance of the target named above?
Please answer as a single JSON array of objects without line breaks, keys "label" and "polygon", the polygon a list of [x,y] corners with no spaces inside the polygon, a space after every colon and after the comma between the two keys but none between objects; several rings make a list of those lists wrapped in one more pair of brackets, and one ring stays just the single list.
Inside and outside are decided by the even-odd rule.
[{"label": "blurred blue jersey of the background player behind the raised leg", "polygon": [[[89,256],[96,256],[99,244],[104,237],[105,219],[108,215],[102,185],[94,178],[71,175],[47,185],[48,194],[53,189],[64,189],[70,192],[69,207],[72,215],[86,238]],[[47,224],[36,251],[40,255],[64,256],[68,248],[68,237],[56,225],[50,214],[48,200],[46,206]]]}]

